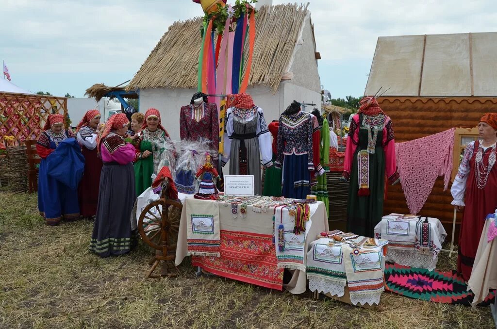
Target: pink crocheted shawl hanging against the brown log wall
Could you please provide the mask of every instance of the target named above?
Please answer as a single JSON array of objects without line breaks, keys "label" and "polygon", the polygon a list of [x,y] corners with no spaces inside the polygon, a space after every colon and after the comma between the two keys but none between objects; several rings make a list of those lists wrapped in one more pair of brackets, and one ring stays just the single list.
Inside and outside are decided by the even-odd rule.
[{"label": "pink crocheted shawl hanging against the brown log wall", "polygon": [[411,214],[417,214],[433,189],[438,176],[444,176],[447,189],[452,173],[455,128],[395,144],[402,189]]}]

